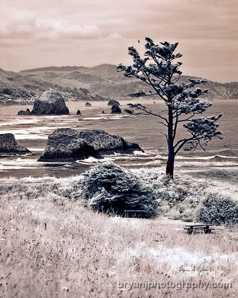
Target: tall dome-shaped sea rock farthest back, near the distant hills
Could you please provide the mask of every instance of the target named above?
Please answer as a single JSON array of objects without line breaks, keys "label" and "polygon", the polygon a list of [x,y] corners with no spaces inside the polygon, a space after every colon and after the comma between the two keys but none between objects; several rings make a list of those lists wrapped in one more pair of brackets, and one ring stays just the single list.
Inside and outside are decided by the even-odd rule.
[{"label": "tall dome-shaped sea rock farthest back, near the distant hills", "polygon": [[31,113],[37,115],[68,115],[69,111],[62,95],[50,88],[36,99]]}]

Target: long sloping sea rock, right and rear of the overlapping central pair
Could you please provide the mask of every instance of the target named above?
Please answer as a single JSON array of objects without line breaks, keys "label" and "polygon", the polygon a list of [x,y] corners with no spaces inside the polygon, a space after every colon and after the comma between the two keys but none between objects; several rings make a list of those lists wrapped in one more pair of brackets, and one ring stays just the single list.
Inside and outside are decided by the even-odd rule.
[{"label": "long sloping sea rock, right and rear of the overlapping central pair", "polygon": [[144,152],[138,144],[127,142],[120,136],[109,135],[103,130],[84,130],[79,135],[85,143],[93,146],[101,154],[131,154],[135,150]]}]

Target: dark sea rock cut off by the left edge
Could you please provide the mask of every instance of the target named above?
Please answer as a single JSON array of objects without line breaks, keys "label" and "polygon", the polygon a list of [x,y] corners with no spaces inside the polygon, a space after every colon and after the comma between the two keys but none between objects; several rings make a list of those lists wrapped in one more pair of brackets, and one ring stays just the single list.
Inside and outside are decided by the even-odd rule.
[{"label": "dark sea rock cut off by the left edge", "polygon": [[0,154],[25,154],[32,153],[26,147],[18,145],[15,137],[12,134],[1,134],[0,135]]}]

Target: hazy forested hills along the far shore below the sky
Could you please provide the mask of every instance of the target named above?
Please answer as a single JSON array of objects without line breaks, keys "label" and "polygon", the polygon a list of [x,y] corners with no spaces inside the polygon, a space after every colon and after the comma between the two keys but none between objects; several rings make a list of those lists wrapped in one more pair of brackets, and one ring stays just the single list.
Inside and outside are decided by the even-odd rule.
[{"label": "hazy forested hills along the far shore below the sky", "polygon": [[[184,75],[181,80],[186,81],[187,78]],[[45,67],[19,73],[0,69],[0,104],[32,103],[48,88],[60,92],[66,101],[128,98],[128,94],[135,91],[148,91],[146,84],[124,77],[111,64],[91,68]],[[238,82],[219,83],[209,80],[206,88],[209,88],[207,98],[238,99]]]}]

